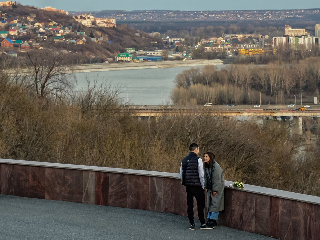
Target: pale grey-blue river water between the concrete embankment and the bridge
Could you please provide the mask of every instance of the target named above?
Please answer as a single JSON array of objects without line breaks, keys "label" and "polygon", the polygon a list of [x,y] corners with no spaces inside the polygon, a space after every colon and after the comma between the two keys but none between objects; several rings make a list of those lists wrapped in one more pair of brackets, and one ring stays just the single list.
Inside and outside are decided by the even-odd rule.
[{"label": "pale grey-blue river water between the concrete embankment and the bridge", "polygon": [[[220,69],[225,65],[215,65]],[[92,84],[111,83],[113,86],[121,86],[119,94],[122,103],[128,102],[134,105],[171,105],[171,91],[175,86],[176,76],[183,70],[202,67],[171,67],[171,68],[145,68],[130,70],[114,70],[75,73],[77,79],[76,89],[86,86],[86,79]]]}]

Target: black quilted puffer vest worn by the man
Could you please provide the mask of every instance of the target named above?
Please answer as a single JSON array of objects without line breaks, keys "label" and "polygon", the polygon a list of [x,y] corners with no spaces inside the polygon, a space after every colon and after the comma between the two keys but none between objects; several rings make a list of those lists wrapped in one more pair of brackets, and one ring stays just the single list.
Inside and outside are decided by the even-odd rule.
[{"label": "black quilted puffer vest worn by the man", "polygon": [[[198,170],[198,159],[199,157],[194,152],[190,152],[188,156],[182,159],[182,171],[185,172],[183,185],[201,187]],[[187,164],[188,167],[186,169]]]}]

